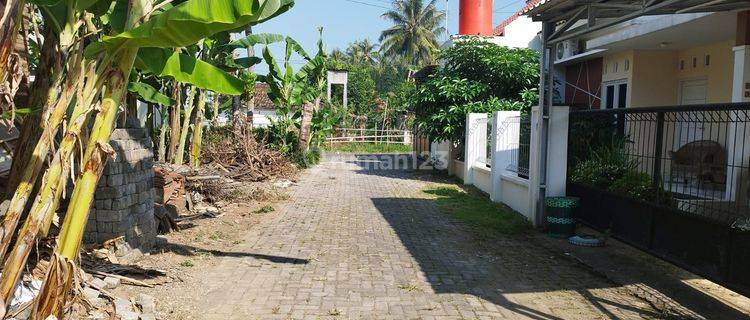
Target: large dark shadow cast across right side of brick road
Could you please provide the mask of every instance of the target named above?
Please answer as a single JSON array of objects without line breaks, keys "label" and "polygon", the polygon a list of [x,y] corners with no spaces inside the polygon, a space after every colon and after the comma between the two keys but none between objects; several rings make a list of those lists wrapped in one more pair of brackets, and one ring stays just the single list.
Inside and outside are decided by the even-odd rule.
[{"label": "large dark shadow cast across right side of brick road", "polygon": [[[627,309],[642,317],[660,317],[650,309],[602,301],[590,290],[618,287],[577,262],[534,244],[529,235],[475,232],[469,225],[444,216],[430,199],[375,198],[373,204],[417,261],[436,293],[470,294],[532,319],[562,319],[544,308],[511,301],[519,294],[565,292],[578,295],[612,319],[610,308]],[[544,304],[544,302],[540,302]]]}]

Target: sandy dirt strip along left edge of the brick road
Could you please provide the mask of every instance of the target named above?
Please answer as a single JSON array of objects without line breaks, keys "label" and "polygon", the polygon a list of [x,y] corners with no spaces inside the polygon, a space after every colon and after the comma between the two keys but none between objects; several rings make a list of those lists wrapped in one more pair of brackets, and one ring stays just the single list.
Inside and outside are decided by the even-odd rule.
[{"label": "sandy dirt strip along left edge of the brick road", "polygon": [[113,293],[124,299],[147,294],[156,299],[157,317],[164,320],[201,319],[195,306],[210,282],[212,269],[223,257],[241,251],[254,227],[272,219],[285,205],[287,189],[272,182],[243,183],[229,203],[219,203],[220,215],[179,223],[180,231],[159,236],[150,254],[133,261],[144,269],[161,270],[166,276],[143,279],[153,288],[123,284]]}]

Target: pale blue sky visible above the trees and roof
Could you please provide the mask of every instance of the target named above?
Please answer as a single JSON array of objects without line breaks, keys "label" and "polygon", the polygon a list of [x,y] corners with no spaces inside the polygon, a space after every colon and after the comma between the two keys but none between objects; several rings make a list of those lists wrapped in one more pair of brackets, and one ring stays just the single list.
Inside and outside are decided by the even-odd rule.
[{"label": "pale blue sky visible above the trees and roof", "polygon": [[[427,2],[428,0],[425,0]],[[458,31],[458,2],[448,0],[448,29],[451,34]],[[326,47],[346,49],[349,43],[369,38],[378,41],[380,32],[390,23],[381,14],[390,7],[389,0],[296,0],[294,8],[289,12],[257,26],[255,33],[279,33],[291,36],[310,53],[315,53],[318,40],[317,28],[324,28],[323,40]],[[495,0],[494,22],[500,23],[516,10],[519,10],[524,0]],[[437,1],[438,9],[445,10],[446,0]],[[256,48],[260,54],[260,48]],[[280,59],[282,49],[274,48],[273,53]],[[295,60],[295,67],[302,61]],[[258,67],[259,73],[265,73],[265,65]]]}]

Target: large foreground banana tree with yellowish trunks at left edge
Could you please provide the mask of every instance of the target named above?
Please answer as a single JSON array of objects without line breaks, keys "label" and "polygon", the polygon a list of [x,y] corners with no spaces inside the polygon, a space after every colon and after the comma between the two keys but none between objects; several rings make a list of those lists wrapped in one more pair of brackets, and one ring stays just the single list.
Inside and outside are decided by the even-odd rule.
[{"label": "large foreground banana tree with yellowish trunks at left edge", "polygon": [[[169,76],[175,80],[191,83],[202,89],[211,89],[225,94],[240,94],[242,81],[232,79],[229,75],[212,73],[207,63],[192,57],[186,57],[172,48],[192,45],[202,38],[218,32],[234,30],[248,24],[257,24],[275,17],[288,10],[292,0],[188,0],[179,5],[162,6],[154,10],[150,0],[117,1],[114,6],[106,7],[110,16],[122,16],[125,22],[121,25],[122,32],[113,36],[101,36],[98,41],[82,47],[84,37],[96,32],[89,29],[110,30],[120,29],[115,25],[115,19],[110,19],[109,25],[101,25],[101,20],[94,19],[92,10],[101,1],[73,1],[38,0],[35,3],[45,13],[45,25],[55,28],[57,37],[64,50],[67,50],[67,61],[64,61],[64,75],[52,79],[61,86],[53,86],[54,92],[48,93],[48,110],[52,119],[73,107],[73,112],[66,121],[67,127],[62,135],[62,141],[54,152],[49,167],[44,173],[44,179],[35,201],[29,211],[29,216],[23,227],[17,232],[17,241],[3,264],[0,278],[0,316],[6,313],[5,307],[10,300],[13,289],[20,278],[34,241],[41,231],[48,229],[51,215],[60,203],[62,191],[65,189],[72,163],[69,159],[74,155],[76,146],[82,145],[80,159],[80,173],[75,178],[75,187],[70,197],[70,203],[65,215],[59,241],[54,256],[47,271],[44,286],[36,300],[32,319],[46,319],[50,315],[58,318],[63,316],[62,306],[70,292],[75,259],[78,255],[88,212],[93,201],[93,194],[101,176],[104,164],[111,155],[109,140],[115,121],[119,114],[123,98],[128,94],[129,76],[135,65],[142,71],[151,72],[157,76]],[[124,5],[122,5],[124,3]],[[108,4],[108,2],[106,3]],[[118,9],[119,8],[119,9]],[[113,14],[113,10],[118,15]],[[220,70],[218,70],[220,71]],[[44,77],[48,75],[37,75]],[[59,79],[59,80],[58,80]],[[239,83],[239,85],[238,85]],[[62,88],[62,89],[57,89]],[[57,92],[59,90],[59,92]],[[71,95],[70,93],[76,93]],[[70,97],[68,97],[70,96]],[[96,110],[96,112],[93,112]],[[49,121],[44,128],[42,138],[37,143],[35,154],[38,163],[28,164],[23,181],[31,186],[36,182],[41,172],[41,163],[46,158],[51,141],[59,124]],[[88,128],[87,123],[93,122],[88,141],[80,141],[85,136],[83,131]],[[26,190],[28,189],[28,190]],[[26,201],[30,198],[31,188],[21,189],[13,196],[15,208],[22,211]],[[3,248],[8,248],[18,223],[19,214],[5,215],[2,228]]]}]

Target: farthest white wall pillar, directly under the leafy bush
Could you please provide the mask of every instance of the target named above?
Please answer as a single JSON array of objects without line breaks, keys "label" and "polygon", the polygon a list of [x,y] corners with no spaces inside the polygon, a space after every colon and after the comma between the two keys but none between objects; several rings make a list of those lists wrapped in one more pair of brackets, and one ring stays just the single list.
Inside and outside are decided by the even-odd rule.
[{"label": "farthest white wall pillar, directly under the leafy bush", "polygon": [[487,156],[487,114],[466,115],[466,137],[464,142],[464,184],[474,184],[472,167]]}]

